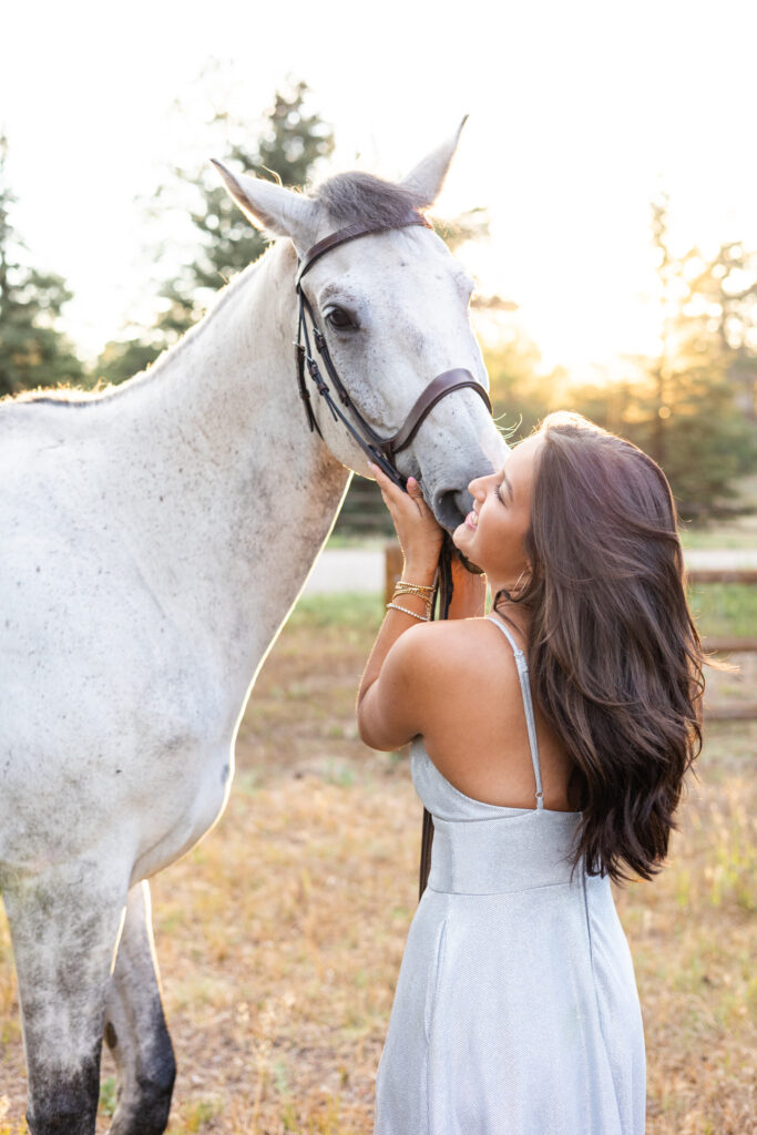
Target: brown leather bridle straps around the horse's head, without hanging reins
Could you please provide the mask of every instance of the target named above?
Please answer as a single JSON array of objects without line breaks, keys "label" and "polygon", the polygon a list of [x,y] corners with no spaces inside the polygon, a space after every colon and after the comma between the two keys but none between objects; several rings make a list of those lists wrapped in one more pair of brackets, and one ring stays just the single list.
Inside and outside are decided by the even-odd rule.
[{"label": "brown leather bridle straps around the horse's head, without hanging reins", "polygon": [[[305,367],[308,368],[308,373],[316,384],[316,389],[331,411],[334,420],[336,421],[337,419],[340,419],[344,422],[361,449],[363,449],[371,461],[379,465],[387,477],[390,477],[395,485],[398,485],[399,488],[405,487],[405,478],[397,469],[395,455],[410,445],[412,439],[418,434],[421,424],[426,420],[427,414],[430,413],[437,402],[445,398],[447,394],[452,394],[453,390],[462,390],[465,387],[470,387],[482,398],[487,410],[491,413],[489,396],[481,384],[476,381],[469,370],[463,370],[461,368],[456,368],[455,370],[445,370],[441,375],[437,375],[436,378],[429,382],[426,389],[421,392],[420,397],[411,407],[410,413],[397,432],[393,434],[392,437],[380,437],[380,435],[378,435],[376,430],[369,426],[358,407],[353,405],[353,402],[337,373],[326,338],[316,322],[316,316],[311,303],[302,289],[302,277],[326,252],[330,252],[331,249],[336,249],[340,244],[346,244],[348,241],[355,241],[361,236],[369,236],[373,233],[387,233],[395,228],[410,228],[412,225],[421,225],[423,228],[431,227],[423,217],[420,217],[418,213],[411,213],[398,225],[350,225],[346,228],[340,228],[338,232],[331,233],[330,236],[325,237],[322,241],[319,241],[318,244],[314,244],[311,249],[309,249],[300,263],[295,281],[297,295],[300,296],[300,319],[297,325],[297,340],[295,343],[297,382],[300,385],[300,396],[304,403],[308,424],[310,426],[311,432],[316,430],[320,437],[323,437],[320,426],[316,420],[316,414],[313,413],[310,400],[310,392],[308,390],[305,384]],[[323,361],[326,372],[334,384],[334,389],[338,395],[342,405],[345,410],[350,411],[353,421],[350,421],[343,410],[337,405],[331,390],[323,380],[318,361],[311,350],[308,320],[310,320],[316,348]]]}]

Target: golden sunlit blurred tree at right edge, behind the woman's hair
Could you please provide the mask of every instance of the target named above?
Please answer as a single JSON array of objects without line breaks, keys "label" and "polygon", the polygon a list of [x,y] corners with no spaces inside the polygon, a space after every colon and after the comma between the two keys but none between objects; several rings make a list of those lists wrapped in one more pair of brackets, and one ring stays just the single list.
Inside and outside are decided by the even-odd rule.
[{"label": "golden sunlit blurred tree at right edge, behind the woman's hair", "polygon": [[662,465],[684,518],[704,519],[732,511],[734,481],[757,455],[757,272],[740,245],[709,259],[696,246],[676,254],[668,210],[665,195],[653,201],[659,352],[629,361],[625,381],[574,400]]}]

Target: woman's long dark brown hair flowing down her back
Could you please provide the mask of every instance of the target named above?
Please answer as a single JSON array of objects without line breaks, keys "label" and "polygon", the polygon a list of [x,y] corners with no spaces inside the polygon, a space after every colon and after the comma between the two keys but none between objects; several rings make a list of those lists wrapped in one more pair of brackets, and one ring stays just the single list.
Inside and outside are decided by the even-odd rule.
[{"label": "woman's long dark brown hair flowing down her back", "polygon": [[523,547],[533,697],[575,764],[574,863],[615,882],[665,859],[701,748],[703,653],[675,505],[641,449],[578,414],[550,414]]}]

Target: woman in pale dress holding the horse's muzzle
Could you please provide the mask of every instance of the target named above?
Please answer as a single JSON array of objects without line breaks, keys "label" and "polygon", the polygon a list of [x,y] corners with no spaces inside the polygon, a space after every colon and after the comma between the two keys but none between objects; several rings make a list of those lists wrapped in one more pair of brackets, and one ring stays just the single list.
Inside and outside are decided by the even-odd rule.
[{"label": "woman in pale dress holding the horse's muzzle", "polygon": [[[701,651],[659,468],[550,415],[441,532],[373,469],[403,582],[359,693],[435,821],[377,1082],[378,1135],[639,1135],[645,1049],[611,880],[650,878],[700,745]],[[530,679],[529,679],[530,675]]]}]

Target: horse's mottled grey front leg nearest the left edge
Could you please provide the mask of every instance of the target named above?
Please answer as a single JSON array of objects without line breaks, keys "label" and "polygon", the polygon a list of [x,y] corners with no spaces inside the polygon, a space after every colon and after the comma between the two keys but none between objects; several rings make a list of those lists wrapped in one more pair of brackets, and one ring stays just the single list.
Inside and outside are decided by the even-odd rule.
[{"label": "horse's mottled grey front leg nearest the left edge", "polygon": [[125,888],[107,888],[81,863],[3,889],[31,1135],[94,1135],[106,997],[125,899]]}]

